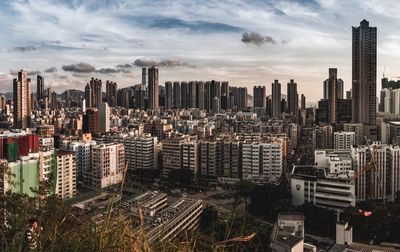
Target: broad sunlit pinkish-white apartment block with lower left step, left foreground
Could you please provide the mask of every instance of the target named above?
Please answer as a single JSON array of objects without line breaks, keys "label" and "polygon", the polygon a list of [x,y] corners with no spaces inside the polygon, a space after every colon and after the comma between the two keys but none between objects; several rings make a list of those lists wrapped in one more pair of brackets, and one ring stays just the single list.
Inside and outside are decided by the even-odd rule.
[{"label": "broad sunlit pinkish-white apartment block with lower left step, left foreground", "polygon": [[125,170],[123,144],[100,144],[92,148],[90,169],[83,173],[84,183],[92,188],[104,188],[122,182]]}]

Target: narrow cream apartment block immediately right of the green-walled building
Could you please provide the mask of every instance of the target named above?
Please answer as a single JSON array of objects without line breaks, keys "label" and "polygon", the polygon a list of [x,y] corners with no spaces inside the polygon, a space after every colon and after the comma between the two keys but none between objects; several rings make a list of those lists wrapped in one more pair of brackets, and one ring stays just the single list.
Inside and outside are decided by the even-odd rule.
[{"label": "narrow cream apartment block immediately right of the green-walled building", "polygon": [[76,155],[73,151],[57,151],[55,194],[62,199],[76,196]]}]

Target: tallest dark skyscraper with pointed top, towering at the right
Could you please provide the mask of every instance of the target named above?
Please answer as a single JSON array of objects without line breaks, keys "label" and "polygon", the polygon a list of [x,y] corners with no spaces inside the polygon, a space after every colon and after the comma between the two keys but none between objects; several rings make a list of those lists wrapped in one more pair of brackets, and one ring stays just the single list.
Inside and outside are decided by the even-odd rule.
[{"label": "tallest dark skyscraper with pointed top, towering at the right", "polygon": [[352,120],[369,126],[376,124],[376,48],[376,27],[364,19],[353,27]]}]

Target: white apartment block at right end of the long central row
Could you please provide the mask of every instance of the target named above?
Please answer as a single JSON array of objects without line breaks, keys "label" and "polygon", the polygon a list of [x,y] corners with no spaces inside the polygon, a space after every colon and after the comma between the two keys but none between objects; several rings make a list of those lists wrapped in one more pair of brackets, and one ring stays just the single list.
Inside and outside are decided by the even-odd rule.
[{"label": "white apartment block at right end of the long central row", "polygon": [[244,180],[256,183],[278,183],[282,175],[280,143],[244,142],[242,152]]}]

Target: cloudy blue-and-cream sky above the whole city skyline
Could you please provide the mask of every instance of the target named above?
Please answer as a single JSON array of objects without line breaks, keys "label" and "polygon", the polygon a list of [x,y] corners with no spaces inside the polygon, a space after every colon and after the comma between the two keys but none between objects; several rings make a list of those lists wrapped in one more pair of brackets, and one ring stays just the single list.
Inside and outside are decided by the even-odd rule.
[{"label": "cloudy blue-and-cream sky above the whole city skyline", "polygon": [[[0,92],[26,69],[58,92],[91,77],[118,87],[141,67],[165,81],[221,80],[232,86],[294,79],[307,101],[322,97],[328,68],[351,87],[351,27],[378,28],[380,78],[400,75],[400,1],[392,0],[2,0]],[[105,89],[105,87],[104,87]]]}]

